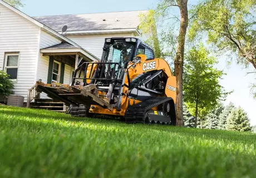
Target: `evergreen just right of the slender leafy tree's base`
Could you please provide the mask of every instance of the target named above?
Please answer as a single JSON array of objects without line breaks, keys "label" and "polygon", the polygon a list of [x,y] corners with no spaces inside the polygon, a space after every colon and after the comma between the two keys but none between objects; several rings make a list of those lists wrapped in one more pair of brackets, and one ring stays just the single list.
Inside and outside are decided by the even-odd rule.
[{"label": "evergreen just right of the slender leafy tree's base", "polygon": [[206,116],[205,128],[218,129],[220,124],[220,115],[224,110],[223,103],[218,102],[216,107]]}]

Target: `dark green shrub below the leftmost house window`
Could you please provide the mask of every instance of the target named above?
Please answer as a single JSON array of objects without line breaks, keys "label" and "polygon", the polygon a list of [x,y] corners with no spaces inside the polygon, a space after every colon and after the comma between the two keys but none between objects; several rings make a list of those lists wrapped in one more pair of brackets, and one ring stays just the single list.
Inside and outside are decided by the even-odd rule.
[{"label": "dark green shrub below the leftmost house window", "polygon": [[0,71],[0,96],[11,95],[13,83],[9,79],[9,75],[5,71]]}]

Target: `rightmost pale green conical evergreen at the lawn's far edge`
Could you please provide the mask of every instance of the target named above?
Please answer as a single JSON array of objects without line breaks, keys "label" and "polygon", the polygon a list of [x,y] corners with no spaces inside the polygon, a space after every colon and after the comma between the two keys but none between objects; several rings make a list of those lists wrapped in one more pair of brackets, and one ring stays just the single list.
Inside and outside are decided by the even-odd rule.
[{"label": "rightmost pale green conical evergreen at the lawn's far edge", "polygon": [[227,121],[227,130],[240,132],[248,132],[252,130],[247,113],[242,107],[239,106],[230,113]]}]

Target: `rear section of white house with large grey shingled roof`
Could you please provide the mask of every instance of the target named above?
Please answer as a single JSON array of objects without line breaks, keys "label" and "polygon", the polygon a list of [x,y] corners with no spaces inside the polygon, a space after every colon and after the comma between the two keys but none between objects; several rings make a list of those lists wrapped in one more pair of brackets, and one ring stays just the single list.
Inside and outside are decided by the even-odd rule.
[{"label": "rear section of white house with large grey shingled roof", "polygon": [[61,33],[67,26],[65,36],[82,48],[101,58],[105,38],[139,37],[145,41],[138,30],[139,14],[147,11],[109,12],[91,14],[71,14],[61,16],[34,17],[53,30]]}]

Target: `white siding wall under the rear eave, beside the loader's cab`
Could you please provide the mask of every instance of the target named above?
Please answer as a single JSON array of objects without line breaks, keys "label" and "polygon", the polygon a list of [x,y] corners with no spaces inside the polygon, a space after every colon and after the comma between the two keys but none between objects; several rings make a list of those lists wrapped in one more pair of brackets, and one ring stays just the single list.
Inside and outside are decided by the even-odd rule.
[{"label": "white siding wall under the rear eave, beside the loader's cab", "polygon": [[102,35],[80,35],[67,36],[73,42],[80,45],[82,48],[91,52],[93,55],[101,59],[102,48],[104,46],[105,38],[111,37],[131,37],[131,33],[117,33],[117,34],[102,34]]}]

